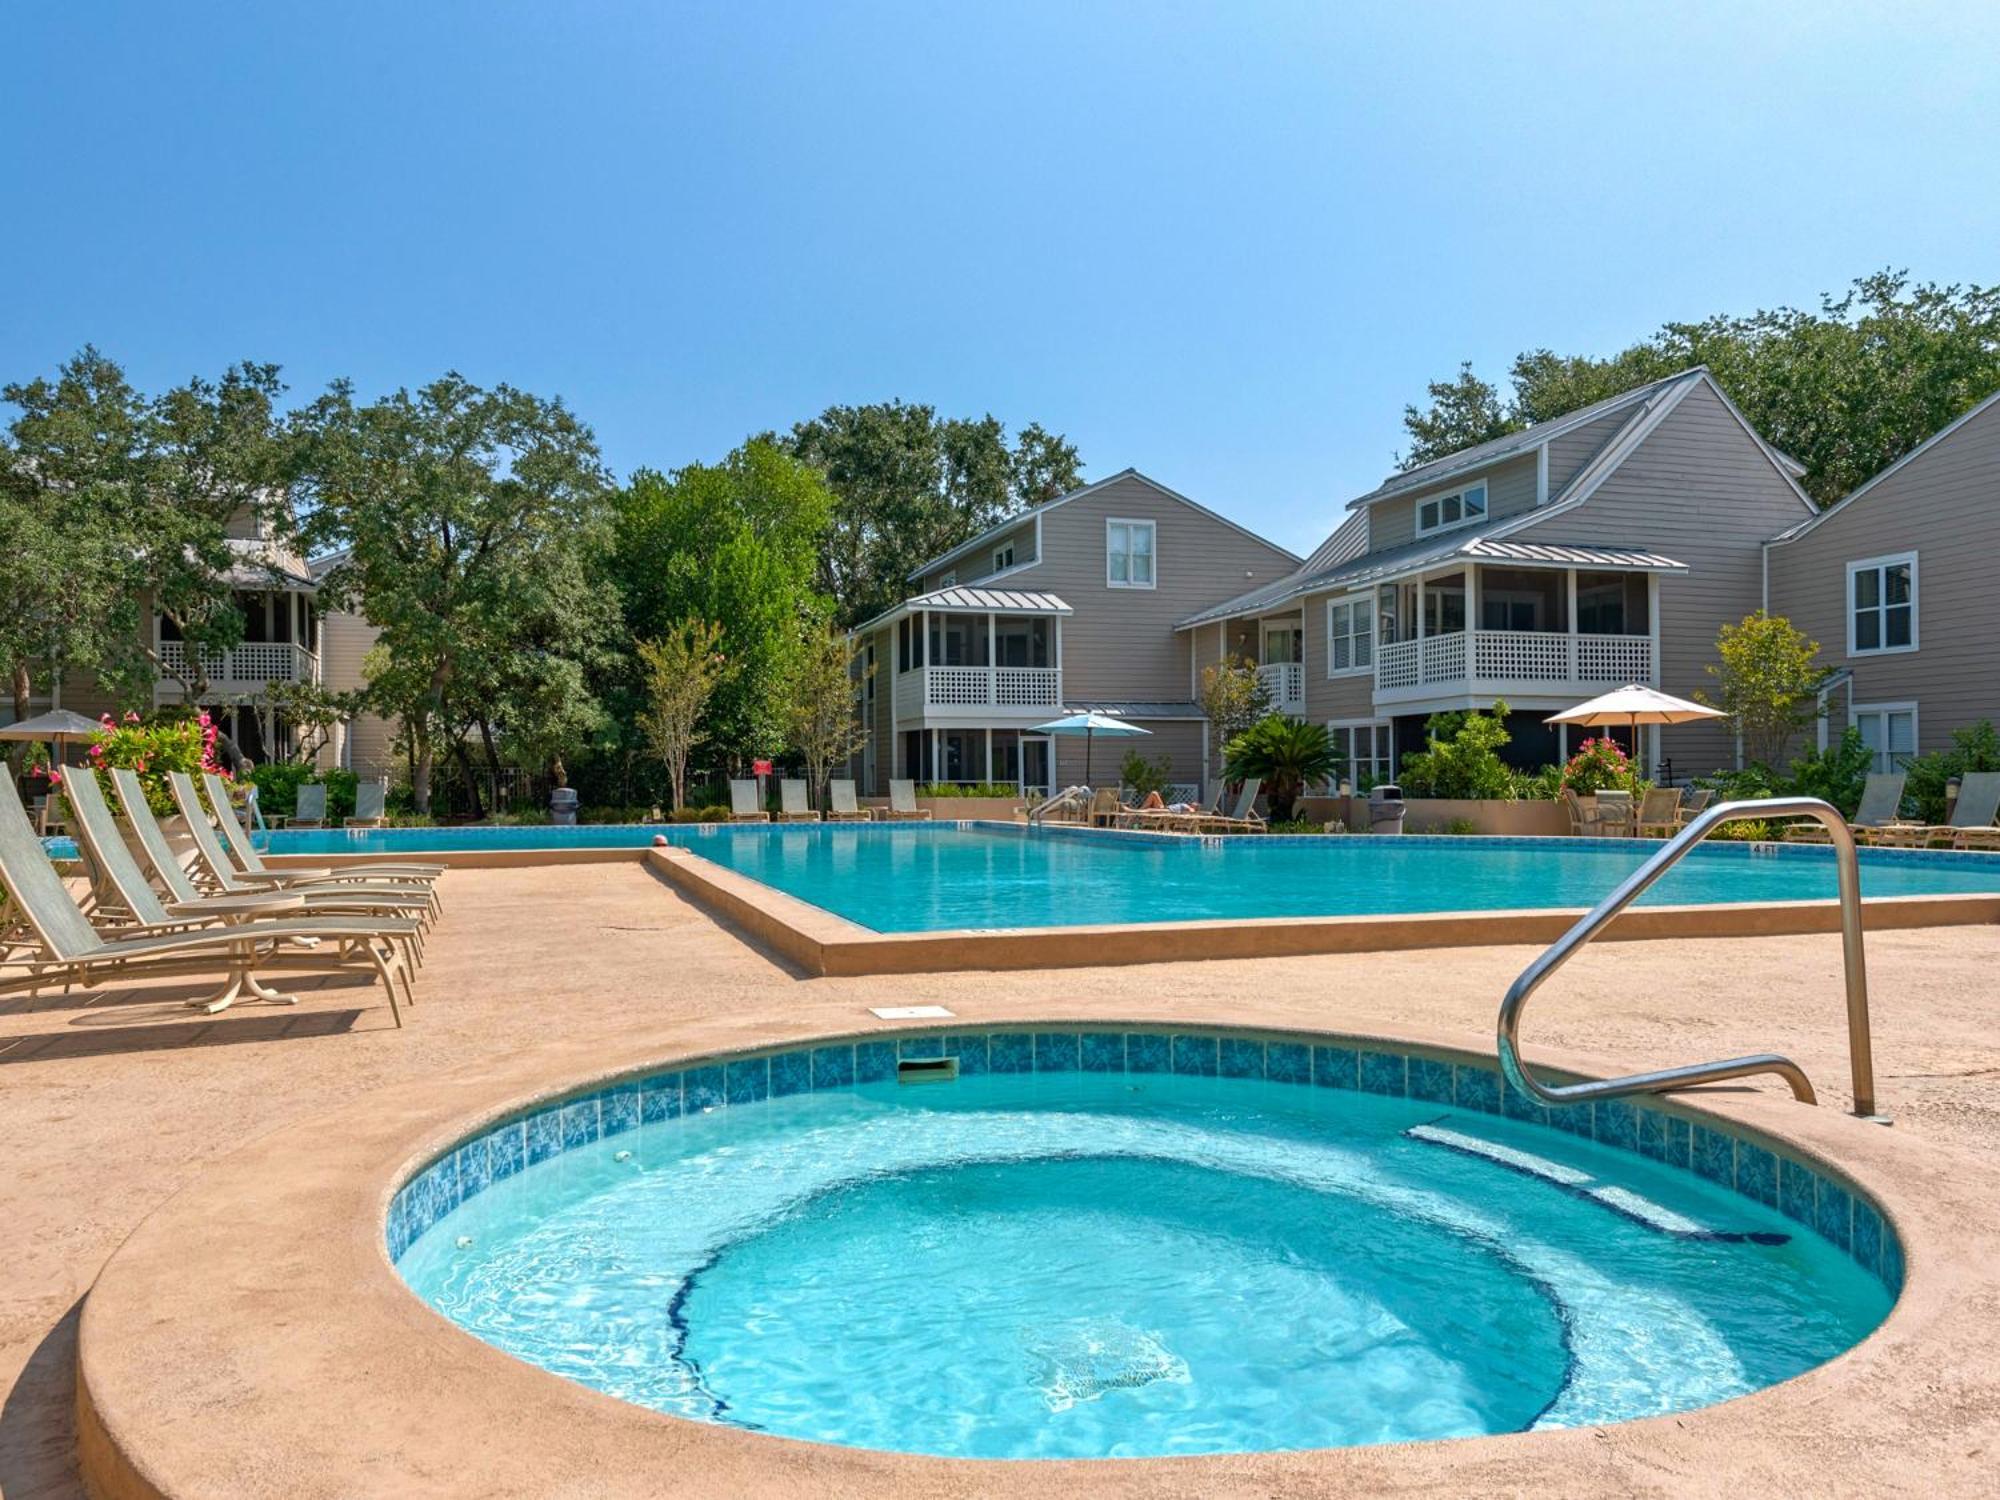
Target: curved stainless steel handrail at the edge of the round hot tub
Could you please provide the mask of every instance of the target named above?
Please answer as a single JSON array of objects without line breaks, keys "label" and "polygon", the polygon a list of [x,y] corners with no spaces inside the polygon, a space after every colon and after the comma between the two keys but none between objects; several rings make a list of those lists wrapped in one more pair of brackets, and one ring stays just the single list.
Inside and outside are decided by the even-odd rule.
[{"label": "curved stainless steel handrail at the edge of the round hot tub", "polygon": [[1540,1104],[1582,1104],[1598,1098],[1622,1098],[1626,1094],[1664,1094],[1672,1088],[1694,1084],[1716,1084],[1726,1078],[1750,1078],[1756,1074],[1778,1074],[1792,1086],[1792,1094],[1818,1104],[1806,1072],[1790,1058],[1774,1052],[1758,1052],[1748,1058],[1726,1058],[1722,1062],[1690,1062],[1684,1068],[1662,1068],[1658,1072],[1636,1072],[1626,1078],[1602,1078],[1582,1084],[1542,1084],[1520,1060],[1518,1032],[1520,1012],[1550,974],[1562,968],[1570,956],[1590,942],[1598,930],[1618,912],[1630,906],[1670,868],[1680,864],[1710,830],[1726,822],[1744,818],[1818,818],[1834,842],[1834,868],[1840,876],[1840,952],[1848,978],[1848,1062],[1854,1072],[1854,1112],[1874,1116],[1874,1048],[1868,1036],[1868,960],[1862,954],[1862,872],[1854,852],[1854,834],[1846,818],[1816,796],[1778,796],[1762,802],[1720,802],[1696,814],[1666,846],[1646,860],[1638,870],[1618,882],[1610,896],[1600,900],[1590,912],[1564,932],[1548,950],[1520,972],[1500,1002],[1500,1070],[1506,1080],[1528,1098]]}]

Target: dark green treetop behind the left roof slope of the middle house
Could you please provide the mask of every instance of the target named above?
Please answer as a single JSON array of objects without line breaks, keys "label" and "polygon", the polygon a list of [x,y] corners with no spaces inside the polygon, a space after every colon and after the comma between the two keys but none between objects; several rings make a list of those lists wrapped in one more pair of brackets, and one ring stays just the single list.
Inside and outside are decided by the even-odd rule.
[{"label": "dark green treetop behind the left roof slope of the middle house", "polygon": [[828,406],[784,444],[836,498],[820,592],[844,626],[904,598],[928,558],[1074,490],[1082,472],[1076,446],[1034,422],[1008,446],[992,416],[940,420],[904,402]]}]

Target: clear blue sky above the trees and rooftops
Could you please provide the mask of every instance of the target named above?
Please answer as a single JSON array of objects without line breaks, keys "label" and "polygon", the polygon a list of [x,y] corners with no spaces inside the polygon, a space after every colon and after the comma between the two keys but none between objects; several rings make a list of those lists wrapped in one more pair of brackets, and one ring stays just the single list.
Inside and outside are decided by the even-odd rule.
[{"label": "clear blue sky above the trees and rooftops", "polygon": [[1306,550],[1460,360],[2000,280],[1996,98],[1990,4],[10,6],[0,378],[902,396]]}]

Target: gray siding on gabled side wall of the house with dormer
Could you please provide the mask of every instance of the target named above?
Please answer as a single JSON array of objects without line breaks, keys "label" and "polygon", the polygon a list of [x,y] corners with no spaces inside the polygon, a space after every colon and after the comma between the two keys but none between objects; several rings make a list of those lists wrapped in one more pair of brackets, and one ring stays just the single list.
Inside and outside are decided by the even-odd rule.
[{"label": "gray siding on gabled side wall of the house with dormer", "polygon": [[[1658,582],[1660,686],[1712,686],[1716,630],[1758,610],[1762,542],[1806,514],[1798,490],[1706,384],[1696,384],[1576,510],[1540,520],[1524,542],[1646,546],[1688,564]],[[1676,772],[1734,764],[1728,730],[1668,726],[1660,750]]]}]

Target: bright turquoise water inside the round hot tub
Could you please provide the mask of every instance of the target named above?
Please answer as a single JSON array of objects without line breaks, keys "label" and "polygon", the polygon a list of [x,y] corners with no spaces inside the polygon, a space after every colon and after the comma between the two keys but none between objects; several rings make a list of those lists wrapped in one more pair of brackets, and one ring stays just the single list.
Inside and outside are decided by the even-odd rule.
[{"label": "bright turquoise water inside the round hot tub", "polygon": [[398,1264],[468,1332],[612,1396],[978,1458],[1678,1412],[1808,1370],[1888,1310],[1800,1222],[1632,1152],[1168,1074],[884,1082],[642,1124],[494,1182]]}]

